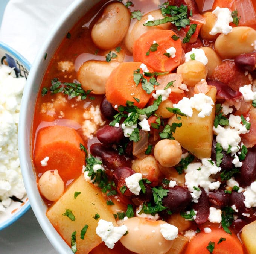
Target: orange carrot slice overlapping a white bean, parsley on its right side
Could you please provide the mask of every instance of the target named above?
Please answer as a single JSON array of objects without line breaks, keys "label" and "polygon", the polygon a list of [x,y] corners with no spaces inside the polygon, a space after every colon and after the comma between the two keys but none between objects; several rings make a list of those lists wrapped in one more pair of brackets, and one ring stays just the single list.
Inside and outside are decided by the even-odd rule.
[{"label": "orange carrot slice overlapping a white bean, parsley on its right side", "polygon": [[[106,83],[106,98],[113,105],[125,105],[126,101],[134,102],[135,106],[143,108],[151,98],[146,93],[141,82],[136,86],[133,80],[134,71],[140,69],[141,62],[123,62],[110,74]],[[151,68],[148,68],[152,72]],[[148,77],[145,77],[149,81]]]}]

